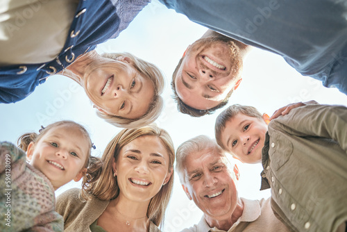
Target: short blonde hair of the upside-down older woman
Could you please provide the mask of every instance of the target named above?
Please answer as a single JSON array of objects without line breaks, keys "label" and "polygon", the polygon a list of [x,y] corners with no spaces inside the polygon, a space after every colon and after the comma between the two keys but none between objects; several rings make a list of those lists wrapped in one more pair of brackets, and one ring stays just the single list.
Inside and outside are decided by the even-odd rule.
[{"label": "short blonde hair of the upside-down older woman", "polygon": [[146,62],[140,58],[137,58],[136,56],[133,56],[130,53],[103,53],[101,56],[114,60],[117,60],[117,57],[119,56],[125,56],[130,58],[133,61],[133,66],[135,67],[135,69],[137,69],[139,74],[151,80],[155,92],[153,100],[149,105],[149,109],[142,117],[139,117],[138,119],[128,119],[116,115],[108,115],[100,112],[99,110],[96,111],[96,114],[99,117],[105,119],[106,122],[114,126],[128,129],[146,126],[154,122],[155,119],[159,117],[164,106],[164,101],[160,96],[160,94],[162,94],[162,91],[164,90],[164,76],[160,69],[158,69],[158,67],[149,62]]}]

